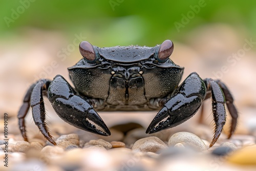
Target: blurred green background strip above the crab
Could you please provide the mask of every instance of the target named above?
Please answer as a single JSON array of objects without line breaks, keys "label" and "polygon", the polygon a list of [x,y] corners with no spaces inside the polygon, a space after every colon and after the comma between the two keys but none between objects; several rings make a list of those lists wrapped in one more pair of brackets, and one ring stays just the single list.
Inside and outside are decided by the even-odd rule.
[{"label": "blurred green background strip above the crab", "polygon": [[[200,3],[203,7],[193,16],[192,8]],[[182,24],[183,15],[191,19],[178,31],[175,22]],[[0,36],[10,39],[33,27],[63,32],[70,39],[82,33],[99,47],[155,46],[167,38],[183,41],[189,30],[208,23],[230,24],[255,37],[255,16],[256,1],[1,1]]]}]

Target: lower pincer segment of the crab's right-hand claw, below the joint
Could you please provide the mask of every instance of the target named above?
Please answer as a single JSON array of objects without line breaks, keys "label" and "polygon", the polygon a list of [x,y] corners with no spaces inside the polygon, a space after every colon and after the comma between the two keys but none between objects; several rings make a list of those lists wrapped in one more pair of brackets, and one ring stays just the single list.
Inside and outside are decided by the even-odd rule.
[{"label": "lower pincer segment of the crab's right-hand claw, below the joint", "polygon": [[186,97],[178,93],[170,98],[148,126],[146,133],[152,134],[177,126],[196,114],[202,104],[200,96]]}]

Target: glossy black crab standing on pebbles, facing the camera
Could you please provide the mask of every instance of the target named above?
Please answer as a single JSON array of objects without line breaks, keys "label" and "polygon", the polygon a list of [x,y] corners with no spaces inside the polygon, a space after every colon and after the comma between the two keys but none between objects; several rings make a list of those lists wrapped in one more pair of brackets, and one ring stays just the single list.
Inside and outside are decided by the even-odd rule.
[{"label": "glossy black crab standing on pebbles, facing the camera", "polygon": [[196,114],[203,100],[210,97],[215,121],[210,147],[218,140],[226,122],[225,104],[232,118],[228,138],[236,129],[238,112],[222,81],[201,79],[193,72],[179,86],[184,68],[169,58],[174,50],[172,41],[165,40],[152,48],[99,48],[82,41],[79,50],[83,58],[68,68],[75,89],[61,75],[53,80],[39,79],[28,89],[18,112],[19,129],[26,141],[25,117],[31,106],[39,131],[56,145],[45,122],[43,95],[48,96],[61,119],[103,136],[111,133],[95,110],[158,110],[146,130],[151,134],[185,122]]}]

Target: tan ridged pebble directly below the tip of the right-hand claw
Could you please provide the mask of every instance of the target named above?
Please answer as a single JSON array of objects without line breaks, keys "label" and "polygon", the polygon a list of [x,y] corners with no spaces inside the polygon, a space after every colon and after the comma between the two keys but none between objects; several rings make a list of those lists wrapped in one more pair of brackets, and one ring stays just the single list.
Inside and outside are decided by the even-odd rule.
[{"label": "tan ridged pebble directly below the tip of the right-hand claw", "polygon": [[140,152],[153,152],[156,153],[161,149],[167,148],[168,146],[157,137],[146,137],[137,140],[133,147],[133,151]]}]

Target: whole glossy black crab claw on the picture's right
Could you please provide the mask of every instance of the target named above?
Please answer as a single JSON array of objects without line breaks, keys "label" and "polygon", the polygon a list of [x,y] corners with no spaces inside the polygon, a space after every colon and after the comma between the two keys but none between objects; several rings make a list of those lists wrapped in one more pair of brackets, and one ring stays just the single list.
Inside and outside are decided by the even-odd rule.
[{"label": "whole glossy black crab claw on the picture's right", "polygon": [[146,133],[152,134],[177,126],[196,114],[205,97],[205,84],[191,73],[152,120]]}]

